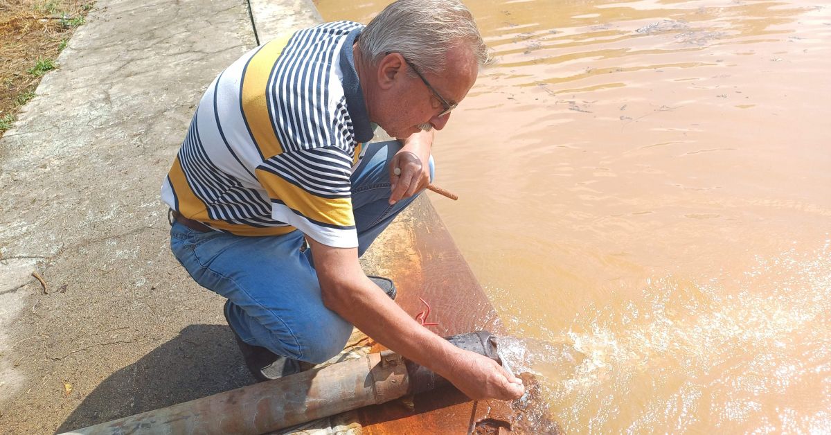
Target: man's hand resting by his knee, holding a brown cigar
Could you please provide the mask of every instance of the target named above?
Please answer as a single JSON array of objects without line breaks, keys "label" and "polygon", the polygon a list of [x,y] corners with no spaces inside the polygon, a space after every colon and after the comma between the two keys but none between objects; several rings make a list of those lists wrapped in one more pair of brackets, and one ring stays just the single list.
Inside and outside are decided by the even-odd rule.
[{"label": "man's hand resting by his knee, holding a brown cigar", "polygon": [[430,147],[433,132],[421,131],[403,140],[404,146],[390,161],[390,204],[416,195],[430,184]]}]

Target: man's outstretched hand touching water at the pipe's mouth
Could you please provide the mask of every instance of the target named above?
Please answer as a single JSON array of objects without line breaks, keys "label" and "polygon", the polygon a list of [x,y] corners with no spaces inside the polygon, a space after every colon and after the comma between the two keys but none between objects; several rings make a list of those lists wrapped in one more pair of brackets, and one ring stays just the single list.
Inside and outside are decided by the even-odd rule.
[{"label": "man's outstretched hand touching water at the pipe's mouth", "polygon": [[502,368],[493,359],[460,349],[450,373],[442,374],[469,398],[513,400],[525,393],[522,379]]}]

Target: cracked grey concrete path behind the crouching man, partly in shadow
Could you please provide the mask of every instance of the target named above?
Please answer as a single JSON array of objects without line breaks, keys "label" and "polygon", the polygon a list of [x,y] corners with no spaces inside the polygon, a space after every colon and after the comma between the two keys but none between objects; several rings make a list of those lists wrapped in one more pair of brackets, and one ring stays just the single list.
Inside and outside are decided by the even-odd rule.
[{"label": "cracked grey concrete path behind the crouching man, partly in shadow", "polygon": [[[317,19],[307,0],[253,5],[263,41]],[[0,141],[2,433],[253,382],[223,300],[170,255],[159,199],[204,89],[256,45],[248,5],[98,0],[86,21]]]}]

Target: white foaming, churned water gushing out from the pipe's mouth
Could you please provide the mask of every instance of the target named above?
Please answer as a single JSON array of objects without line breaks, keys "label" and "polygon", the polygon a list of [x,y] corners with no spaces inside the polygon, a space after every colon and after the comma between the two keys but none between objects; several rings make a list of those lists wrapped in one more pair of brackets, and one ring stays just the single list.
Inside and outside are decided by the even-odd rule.
[{"label": "white foaming, churned water gushing out from the pipe's mouth", "polygon": [[[499,339],[564,432],[823,433],[831,428],[831,250],[795,248],[739,277],[652,279],[568,331]],[[532,398],[518,405],[529,407]]]}]

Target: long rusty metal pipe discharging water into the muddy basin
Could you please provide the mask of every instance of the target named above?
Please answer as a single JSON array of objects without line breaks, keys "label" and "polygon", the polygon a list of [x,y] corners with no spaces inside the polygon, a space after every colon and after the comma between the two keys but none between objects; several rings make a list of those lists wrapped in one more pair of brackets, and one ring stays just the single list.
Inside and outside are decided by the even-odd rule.
[{"label": "long rusty metal pipe discharging water into the muddy basin", "polygon": [[[487,331],[447,338],[499,362]],[[66,434],[258,434],[386,403],[445,384],[427,368],[385,351],[135,414]]]}]

